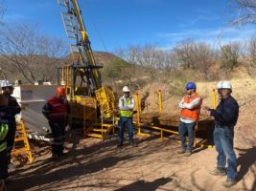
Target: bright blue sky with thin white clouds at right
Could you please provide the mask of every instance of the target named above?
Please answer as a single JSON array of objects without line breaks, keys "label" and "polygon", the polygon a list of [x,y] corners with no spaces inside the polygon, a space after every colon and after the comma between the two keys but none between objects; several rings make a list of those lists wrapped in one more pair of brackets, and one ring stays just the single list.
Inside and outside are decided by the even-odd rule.
[{"label": "bright blue sky with thin white clouds at right", "polygon": [[[79,0],[92,49],[115,52],[130,45],[168,49],[187,38],[225,43],[251,37],[254,26],[225,29],[232,0]],[[67,39],[57,0],[4,0],[7,23],[31,22],[39,31]],[[102,40],[103,39],[103,40]],[[104,43],[102,42],[104,41]],[[104,45],[105,44],[105,45]]]}]

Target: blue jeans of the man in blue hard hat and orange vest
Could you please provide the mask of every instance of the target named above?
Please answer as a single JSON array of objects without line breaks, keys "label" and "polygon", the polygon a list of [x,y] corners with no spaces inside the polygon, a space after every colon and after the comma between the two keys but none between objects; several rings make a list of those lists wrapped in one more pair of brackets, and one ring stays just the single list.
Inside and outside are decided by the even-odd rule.
[{"label": "blue jeans of the man in blue hard hat and orange vest", "polygon": [[[180,121],[178,126],[178,134],[181,140],[181,149],[183,151],[192,152],[193,144],[194,144],[194,130],[195,130],[196,122],[185,123]],[[189,144],[186,142],[186,133],[188,133]]]}]

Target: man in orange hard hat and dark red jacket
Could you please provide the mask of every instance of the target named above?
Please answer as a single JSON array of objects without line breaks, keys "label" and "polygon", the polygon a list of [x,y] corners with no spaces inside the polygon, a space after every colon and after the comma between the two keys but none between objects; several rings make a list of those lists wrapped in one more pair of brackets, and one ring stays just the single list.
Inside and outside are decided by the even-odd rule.
[{"label": "man in orange hard hat and dark red jacket", "polygon": [[56,96],[50,98],[43,106],[42,113],[49,120],[54,141],[52,142],[52,158],[66,156],[64,150],[65,127],[68,122],[68,103],[63,87],[56,89]]}]

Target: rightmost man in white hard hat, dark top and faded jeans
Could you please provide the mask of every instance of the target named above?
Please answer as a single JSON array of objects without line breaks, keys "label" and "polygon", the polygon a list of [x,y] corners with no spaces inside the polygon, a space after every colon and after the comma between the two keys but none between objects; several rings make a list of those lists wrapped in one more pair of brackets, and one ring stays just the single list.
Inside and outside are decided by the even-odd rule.
[{"label": "rightmost man in white hard hat, dark top and faded jeans", "polygon": [[[217,109],[204,107],[206,114],[215,118],[214,142],[217,157],[217,168],[210,171],[215,176],[227,176],[222,183],[224,187],[231,187],[236,184],[237,159],[234,152],[234,126],[239,117],[239,105],[236,99],[231,96],[232,85],[229,81],[218,83],[218,94],[220,103]],[[227,168],[226,166],[227,160]]]}]

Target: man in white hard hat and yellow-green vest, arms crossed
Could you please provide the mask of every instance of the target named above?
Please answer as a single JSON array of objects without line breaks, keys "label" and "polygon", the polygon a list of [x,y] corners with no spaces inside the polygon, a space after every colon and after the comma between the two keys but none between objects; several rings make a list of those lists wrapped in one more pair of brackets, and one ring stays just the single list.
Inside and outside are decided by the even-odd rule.
[{"label": "man in white hard hat and yellow-green vest, arms crossed", "polygon": [[137,146],[133,140],[132,116],[135,106],[134,98],[130,95],[128,86],[123,88],[124,96],[120,97],[118,108],[120,110],[120,134],[118,147],[123,146],[125,126],[128,126],[128,141],[132,146]]}]

